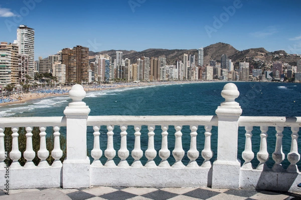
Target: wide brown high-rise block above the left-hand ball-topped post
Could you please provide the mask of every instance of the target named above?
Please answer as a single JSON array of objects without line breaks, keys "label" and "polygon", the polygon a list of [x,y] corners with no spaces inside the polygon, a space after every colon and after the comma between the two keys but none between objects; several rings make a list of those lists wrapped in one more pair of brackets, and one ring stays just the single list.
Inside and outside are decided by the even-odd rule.
[{"label": "wide brown high-rise block above the left-hand ball-topped post", "polygon": [[89,79],[89,48],[77,45],[62,49],[62,63],[66,65],[67,82],[83,82]]}]

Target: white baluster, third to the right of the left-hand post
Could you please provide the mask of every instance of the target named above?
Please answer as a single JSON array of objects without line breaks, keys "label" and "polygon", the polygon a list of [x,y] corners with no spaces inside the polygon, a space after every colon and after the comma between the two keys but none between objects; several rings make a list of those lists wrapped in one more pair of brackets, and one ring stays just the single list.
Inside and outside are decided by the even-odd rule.
[{"label": "white baluster, third to the right of the left-hand post", "polygon": [[129,166],[128,162],[126,161],[126,158],[129,155],[129,151],[126,147],[127,126],[121,125],[120,129],[121,129],[120,132],[121,139],[120,139],[120,149],[118,150],[118,157],[120,157],[121,160],[118,163],[118,166]]}]

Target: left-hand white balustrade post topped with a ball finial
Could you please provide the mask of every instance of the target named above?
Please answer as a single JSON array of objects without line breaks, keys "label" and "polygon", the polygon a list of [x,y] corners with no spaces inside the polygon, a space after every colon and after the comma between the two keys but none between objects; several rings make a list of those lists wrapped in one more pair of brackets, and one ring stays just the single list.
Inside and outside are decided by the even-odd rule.
[{"label": "left-hand white balustrade post topped with a ball finial", "polygon": [[64,110],[67,120],[67,156],[63,162],[63,187],[90,186],[90,159],[87,156],[87,117],[89,106],[82,99],[84,88],[75,84],[69,91],[72,102]]}]

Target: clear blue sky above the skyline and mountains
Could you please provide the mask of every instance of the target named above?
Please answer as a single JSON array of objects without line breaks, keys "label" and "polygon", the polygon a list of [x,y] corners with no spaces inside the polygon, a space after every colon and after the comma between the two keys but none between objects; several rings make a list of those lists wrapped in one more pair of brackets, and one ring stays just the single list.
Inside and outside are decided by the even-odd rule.
[{"label": "clear blue sky above the skyline and mountains", "polygon": [[92,51],[193,49],[216,42],[301,54],[299,0],[1,0],[0,41],[35,29],[35,57]]}]

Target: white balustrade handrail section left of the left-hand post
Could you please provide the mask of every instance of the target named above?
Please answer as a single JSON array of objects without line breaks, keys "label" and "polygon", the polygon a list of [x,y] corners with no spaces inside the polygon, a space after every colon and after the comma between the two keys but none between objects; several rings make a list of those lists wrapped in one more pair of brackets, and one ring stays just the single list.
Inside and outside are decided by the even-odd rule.
[{"label": "white balustrade handrail section left of the left-hand post", "polygon": [[65,116],[1,117],[0,127],[66,126]]}]

